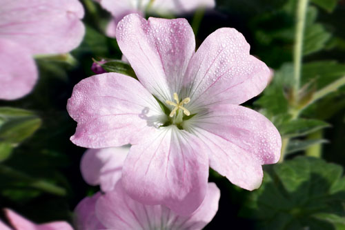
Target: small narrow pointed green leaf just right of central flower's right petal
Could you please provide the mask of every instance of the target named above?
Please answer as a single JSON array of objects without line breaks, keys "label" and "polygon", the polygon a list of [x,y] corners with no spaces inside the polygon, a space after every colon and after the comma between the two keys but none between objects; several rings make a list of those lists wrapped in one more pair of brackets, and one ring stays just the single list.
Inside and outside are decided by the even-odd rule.
[{"label": "small narrow pointed green leaf just right of central flower's right petal", "polygon": [[317,119],[294,119],[279,128],[283,137],[299,137],[329,127],[330,124]]}]

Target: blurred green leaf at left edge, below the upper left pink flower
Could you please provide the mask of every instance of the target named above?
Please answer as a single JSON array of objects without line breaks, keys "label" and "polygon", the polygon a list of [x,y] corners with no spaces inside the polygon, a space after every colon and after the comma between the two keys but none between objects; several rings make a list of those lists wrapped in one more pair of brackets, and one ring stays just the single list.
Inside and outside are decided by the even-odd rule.
[{"label": "blurred green leaf at left edge, below the upper left pink flower", "polygon": [[41,126],[41,119],[33,112],[20,108],[0,108],[0,141],[19,144]]}]

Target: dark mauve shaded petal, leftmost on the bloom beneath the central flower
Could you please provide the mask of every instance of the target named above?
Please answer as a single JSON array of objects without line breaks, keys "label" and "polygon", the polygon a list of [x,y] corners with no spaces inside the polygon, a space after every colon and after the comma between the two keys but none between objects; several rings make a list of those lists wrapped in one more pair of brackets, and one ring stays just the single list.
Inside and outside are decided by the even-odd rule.
[{"label": "dark mauve shaded petal, leftmost on the bloom beneath the central flower", "polygon": [[75,226],[80,230],[105,229],[96,216],[96,202],[101,193],[86,197],[75,208]]}]

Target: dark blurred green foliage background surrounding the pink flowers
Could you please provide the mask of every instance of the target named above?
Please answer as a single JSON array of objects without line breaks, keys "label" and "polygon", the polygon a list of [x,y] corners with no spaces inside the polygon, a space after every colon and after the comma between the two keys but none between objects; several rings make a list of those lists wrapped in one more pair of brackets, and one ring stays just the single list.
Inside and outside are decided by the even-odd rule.
[{"label": "dark blurred green foliage background surrounding the pink flowers", "polygon": [[[32,93],[0,101],[0,207],[34,222],[71,222],[77,203],[99,191],[81,178],[86,149],[69,140],[77,124],[66,102],[75,84],[94,75],[92,58],[121,59],[121,52],[104,33],[110,14],[93,1],[81,2],[86,10],[81,46],[70,58],[36,59],[39,82]],[[266,115],[283,138],[284,157],[264,166],[256,191],[210,170],[221,199],[206,229],[345,229],[345,1],[309,1],[298,53],[299,3],[218,0],[213,10],[179,15],[193,26],[197,46],[217,28],[242,32],[250,53],[274,73],[264,93],[244,106]],[[299,58],[303,64],[296,69]]]}]

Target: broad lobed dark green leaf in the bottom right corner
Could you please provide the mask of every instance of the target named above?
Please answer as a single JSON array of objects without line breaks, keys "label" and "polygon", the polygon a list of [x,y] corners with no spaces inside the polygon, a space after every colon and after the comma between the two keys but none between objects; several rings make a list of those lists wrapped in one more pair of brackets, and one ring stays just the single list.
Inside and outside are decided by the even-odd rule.
[{"label": "broad lobed dark green leaf in the bottom right corner", "polygon": [[342,166],[296,157],[266,169],[262,186],[248,194],[241,212],[256,220],[257,229],[334,229],[329,214],[345,217]]}]

